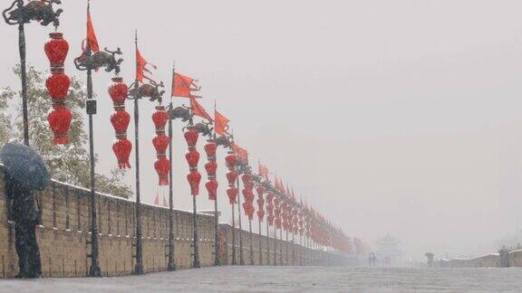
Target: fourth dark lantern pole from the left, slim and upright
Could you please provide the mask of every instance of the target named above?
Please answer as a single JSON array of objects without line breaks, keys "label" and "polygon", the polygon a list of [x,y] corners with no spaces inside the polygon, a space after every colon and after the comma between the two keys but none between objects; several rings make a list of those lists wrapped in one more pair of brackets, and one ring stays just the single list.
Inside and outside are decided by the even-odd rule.
[{"label": "fourth dark lantern pole from the left, slim and upright", "polygon": [[[172,88],[174,89],[174,75],[176,74],[176,61],[172,63]],[[170,93],[169,114],[172,111],[172,96],[174,92]],[[176,263],[174,261],[174,200],[172,195],[172,115],[169,115],[169,264],[167,269],[170,271],[176,270]]]}]

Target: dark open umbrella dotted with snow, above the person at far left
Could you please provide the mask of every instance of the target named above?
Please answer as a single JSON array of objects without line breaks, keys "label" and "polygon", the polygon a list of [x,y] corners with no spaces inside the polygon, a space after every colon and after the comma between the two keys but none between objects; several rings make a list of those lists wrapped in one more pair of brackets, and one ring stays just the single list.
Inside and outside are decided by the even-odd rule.
[{"label": "dark open umbrella dotted with snow, above the person at far left", "polygon": [[0,153],[5,172],[20,184],[32,190],[44,190],[50,176],[43,163],[42,156],[31,147],[19,144],[5,144]]}]

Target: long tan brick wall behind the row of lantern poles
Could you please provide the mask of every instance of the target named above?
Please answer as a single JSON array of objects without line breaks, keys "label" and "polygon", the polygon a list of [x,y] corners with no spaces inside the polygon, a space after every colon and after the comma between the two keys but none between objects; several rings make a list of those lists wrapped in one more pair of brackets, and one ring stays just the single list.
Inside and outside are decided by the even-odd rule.
[{"label": "long tan brick wall behind the row of lantern poles", "polygon": [[[43,223],[37,228],[44,277],[84,277],[90,266],[87,257],[91,251],[90,192],[83,188],[52,182],[42,193],[37,193],[42,204]],[[97,194],[98,225],[100,227],[100,266],[103,276],[132,274],[135,240],[135,204],[130,200],[108,194]],[[143,266],[145,272],[165,270],[169,241],[169,209],[142,204]],[[256,226],[256,223],[253,225]],[[178,269],[190,268],[192,263],[192,213],[174,211],[175,261]],[[220,249],[223,265],[232,263],[232,227],[219,224],[220,237],[226,242]],[[257,231],[257,230],[256,230]],[[237,262],[239,262],[239,231],[235,230]],[[266,264],[266,236],[243,231],[243,256],[250,264],[250,241],[253,260],[258,264],[259,250]],[[213,265],[214,217],[198,213],[199,254],[201,266]],[[284,234],[285,237],[285,234]],[[298,240],[296,240],[298,241]],[[274,255],[278,262],[289,265],[327,264],[333,257],[325,252],[307,250],[301,245],[269,239],[270,261]],[[275,245],[275,246],[274,246]],[[276,250],[274,249],[276,247]],[[281,247],[283,253],[281,253]],[[14,250],[14,227],[7,222],[3,172],[0,172],[0,278],[17,274],[17,257]]]}]

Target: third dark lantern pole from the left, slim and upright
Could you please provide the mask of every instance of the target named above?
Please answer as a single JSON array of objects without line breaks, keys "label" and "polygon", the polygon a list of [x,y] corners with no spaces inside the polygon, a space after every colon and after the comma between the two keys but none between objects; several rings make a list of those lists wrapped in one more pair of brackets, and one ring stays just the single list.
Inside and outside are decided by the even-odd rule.
[{"label": "third dark lantern pole from the left, slim and upright", "polygon": [[[134,47],[136,54],[136,70],[138,70],[138,30],[134,34]],[[138,77],[134,80],[134,155],[136,158],[136,267],[134,273],[143,275],[143,247],[141,243],[141,207],[140,207],[140,106],[138,94]]]}]

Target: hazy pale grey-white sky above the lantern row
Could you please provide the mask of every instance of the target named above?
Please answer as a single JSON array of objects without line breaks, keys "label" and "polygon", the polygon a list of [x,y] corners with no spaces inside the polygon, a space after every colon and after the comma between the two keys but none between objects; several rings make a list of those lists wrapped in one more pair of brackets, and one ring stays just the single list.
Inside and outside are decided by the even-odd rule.
[{"label": "hazy pale grey-white sky above the lantern row", "polygon": [[[63,0],[60,28],[71,44],[66,71],[82,77],[72,61],[85,35],[85,8],[86,1]],[[142,54],[159,66],[154,76],[169,88],[176,61],[178,71],[198,78],[201,103],[211,109],[218,100],[255,166],[261,158],[349,235],[372,241],[391,233],[416,256],[491,251],[517,227],[520,11],[515,0],[92,0],[99,42],[121,47],[125,80],[134,78],[138,29]],[[42,69],[51,30],[26,29],[28,61]],[[4,85],[19,84],[10,71],[16,33],[0,25]],[[116,165],[110,78],[102,71],[94,77],[102,173]],[[141,105],[141,192],[152,203],[153,105]],[[175,203],[189,209],[186,144],[176,124]],[[218,156],[219,206],[228,216],[225,153]],[[198,204],[212,207],[205,191]]]}]

